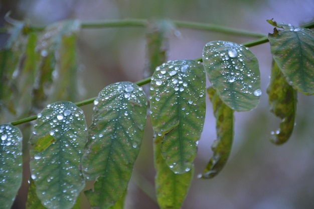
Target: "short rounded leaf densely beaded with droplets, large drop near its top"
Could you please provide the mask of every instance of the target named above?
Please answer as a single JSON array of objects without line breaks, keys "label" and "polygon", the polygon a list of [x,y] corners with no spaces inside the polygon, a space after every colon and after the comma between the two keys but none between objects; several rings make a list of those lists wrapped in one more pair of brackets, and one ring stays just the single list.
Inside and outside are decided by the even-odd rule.
[{"label": "short rounded leaf densely beaded with droplets, large drop near its top", "polygon": [[204,68],[219,97],[235,111],[255,108],[261,95],[256,57],[243,45],[213,41],[203,50]]}]

